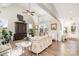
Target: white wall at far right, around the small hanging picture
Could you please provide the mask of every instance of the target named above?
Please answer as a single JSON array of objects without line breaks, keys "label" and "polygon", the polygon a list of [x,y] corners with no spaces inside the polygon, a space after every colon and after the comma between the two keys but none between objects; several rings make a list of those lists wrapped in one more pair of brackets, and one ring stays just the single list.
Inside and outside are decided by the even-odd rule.
[{"label": "white wall at far right, around the small hanging picture", "polygon": [[[75,33],[71,32],[71,26],[73,25],[73,23],[75,23],[76,26],[76,31]],[[67,27],[68,28],[68,33],[67,36],[69,38],[78,38],[79,36],[79,20],[78,19],[62,19],[62,35],[64,35],[63,33],[63,28]]]}]

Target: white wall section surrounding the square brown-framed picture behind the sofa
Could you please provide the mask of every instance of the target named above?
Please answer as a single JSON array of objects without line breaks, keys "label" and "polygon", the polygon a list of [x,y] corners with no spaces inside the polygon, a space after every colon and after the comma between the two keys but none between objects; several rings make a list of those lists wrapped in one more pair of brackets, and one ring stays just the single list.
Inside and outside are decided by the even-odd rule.
[{"label": "white wall section surrounding the square brown-framed picture behind the sofa", "polygon": [[57,24],[57,30],[51,30],[50,29],[50,33],[52,35],[52,39],[55,39],[56,41],[57,40],[61,41],[61,30],[62,30],[61,23],[60,23],[60,21],[52,18],[52,20],[49,22],[49,24],[50,24],[49,27],[51,28],[51,24],[54,24],[54,23]]}]

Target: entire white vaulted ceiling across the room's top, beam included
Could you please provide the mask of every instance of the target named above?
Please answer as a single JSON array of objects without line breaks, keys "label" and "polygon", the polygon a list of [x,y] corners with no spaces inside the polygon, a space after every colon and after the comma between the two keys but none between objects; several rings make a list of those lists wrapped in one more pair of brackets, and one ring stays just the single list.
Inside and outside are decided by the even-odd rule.
[{"label": "entire white vaulted ceiling across the room's top, beam included", "polygon": [[[8,7],[12,4],[0,4],[2,7]],[[17,4],[25,9],[28,9],[27,3]],[[31,10],[37,14],[44,16],[49,14],[55,19],[79,19],[79,4],[78,3],[32,3]]]}]

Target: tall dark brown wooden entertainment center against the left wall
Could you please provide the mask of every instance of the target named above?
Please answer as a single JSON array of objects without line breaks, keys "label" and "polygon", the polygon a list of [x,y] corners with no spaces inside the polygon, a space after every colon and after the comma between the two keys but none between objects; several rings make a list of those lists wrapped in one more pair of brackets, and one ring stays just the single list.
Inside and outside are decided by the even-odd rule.
[{"label": "tall dark brown wooden entertainment center against the left wall", "polygon": [[21,40],[27,37],[27,24],[25,22],[15,22],[14,40]]}]

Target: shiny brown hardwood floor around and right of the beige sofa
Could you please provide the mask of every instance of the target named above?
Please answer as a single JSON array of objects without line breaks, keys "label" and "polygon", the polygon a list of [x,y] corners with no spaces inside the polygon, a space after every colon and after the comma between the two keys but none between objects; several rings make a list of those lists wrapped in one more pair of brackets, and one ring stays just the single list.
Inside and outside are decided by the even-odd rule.
[{"label": "shiny brown hardwood floor around and right of the beige sofa", "polygon": [[[16,41],[19,42],[19,41]],[[12,46],[13,48],[14,43]],[[22,54],[22,56],[36,56],[31,51],[26,51],[26,53]],[[47,49],[42,51],[39,56],[78,56],[79,55],[79,41],[76,39],[67,40],[65,42],[52,42],[52,45],[49,46]]]}]

